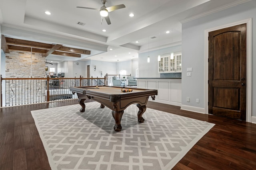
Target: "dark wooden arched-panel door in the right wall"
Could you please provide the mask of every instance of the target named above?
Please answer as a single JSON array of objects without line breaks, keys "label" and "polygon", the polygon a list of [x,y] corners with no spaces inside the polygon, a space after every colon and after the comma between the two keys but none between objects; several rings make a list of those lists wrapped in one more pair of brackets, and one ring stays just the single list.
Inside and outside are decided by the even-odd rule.
[{"label": "dark wooden arched-panel door in the right wall", "polygon": [[209,33],[208,113],[246,120],[246,24]]}]

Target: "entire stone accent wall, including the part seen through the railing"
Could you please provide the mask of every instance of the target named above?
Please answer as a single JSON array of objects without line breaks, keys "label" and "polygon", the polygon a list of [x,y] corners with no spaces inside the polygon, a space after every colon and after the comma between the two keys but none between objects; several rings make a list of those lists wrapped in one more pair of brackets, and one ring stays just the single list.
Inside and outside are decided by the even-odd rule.
[{"label": "entire stone accent wall, including the part seen through the railing", "polygon": [[[32,59],[32,64],[31,64]],[[31,72],[32,65],[32,72]],[[4,80],[3,101],[6,106],[46,101],[45,57],[41,53],[13,51],[6,53],[5,78],[29,78],[27,80]]]}]

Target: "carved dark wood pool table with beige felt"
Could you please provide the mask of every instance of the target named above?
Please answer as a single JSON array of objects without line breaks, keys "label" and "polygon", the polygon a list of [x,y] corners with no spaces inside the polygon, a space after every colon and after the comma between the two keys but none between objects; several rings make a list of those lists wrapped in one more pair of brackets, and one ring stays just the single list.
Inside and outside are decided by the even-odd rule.
[{"label": "carved dark wood pool table with beige felt", "polygon": [[78,102],[82,106],[80,112],[85,111],[84,101],[86,99],[92,99],[100,103],[100,107],[107,106],[112,110],[112,116],[114,117],[116,124],[114,125],[115,131],[121,131],[121,119],[126,109],[131,104],[136,103],[139,108],[138,121],[144,122],[142,114],[146,111],[146,104],[149,96],[152,100],[157,95],[157,90],[141,89],[141,88],[129,88],[132,92],[122,92],[123,87],[119,86],[81,86],[70,87],[70,91],[76,93],[78,96]]}]

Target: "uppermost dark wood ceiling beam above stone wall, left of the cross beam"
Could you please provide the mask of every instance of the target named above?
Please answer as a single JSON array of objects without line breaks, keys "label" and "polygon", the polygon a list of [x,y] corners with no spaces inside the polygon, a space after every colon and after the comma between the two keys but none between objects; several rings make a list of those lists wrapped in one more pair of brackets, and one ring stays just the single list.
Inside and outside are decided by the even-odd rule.
[{"label": "uppermost dark wood ceiling beam above stone wall, left of the cross beam", "polygon": [[41,48],[41,49],[52,49],[52,44],[46,43],[38,43],[34,41],[27,41],[21,39],[14,39],[14,38],[6,38],[6,42],[8,45],[20,45],[24,47],[34,47],[34,48]]}]

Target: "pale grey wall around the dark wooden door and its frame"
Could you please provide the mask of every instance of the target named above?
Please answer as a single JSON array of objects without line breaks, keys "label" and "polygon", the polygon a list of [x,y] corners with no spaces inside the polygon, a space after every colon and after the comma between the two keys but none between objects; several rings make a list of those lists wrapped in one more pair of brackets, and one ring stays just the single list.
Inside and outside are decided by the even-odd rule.
[{"label": "pale grey wall around the dark wooden door and its frame", "polygon": [[[256,49],[256,1],[252,0],[182,24],[182,105],[205,109],[204,31],[249,18],[252,18],[252,104],[256,103],[256,58],[253,51]],[[188,67],[193,69],[191,77],[186,76]],[[191,102],[186,102],[187,97]],[[197,98],[200,103],[196,103]],[[252,116],[256,116],[255,105],[252,106]]]}]

